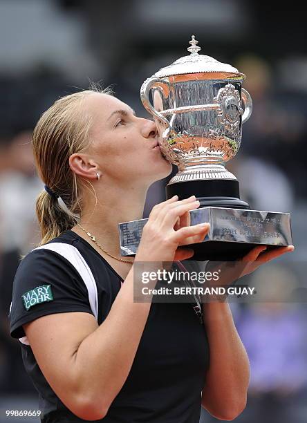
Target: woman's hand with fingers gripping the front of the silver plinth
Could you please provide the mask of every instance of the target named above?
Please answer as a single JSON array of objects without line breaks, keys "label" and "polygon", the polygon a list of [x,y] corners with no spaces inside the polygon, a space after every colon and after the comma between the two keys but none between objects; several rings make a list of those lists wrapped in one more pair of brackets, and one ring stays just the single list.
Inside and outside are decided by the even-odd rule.
[{"label": "woman's hand with fingers gripping the front of the silver plinth", "polygon": [[189,211],[198,207],[195,196],[180,201],[174,196],[154,206],[142,231],[136,261],[172,262],[192,257],[192,248],[180,246],[201,243],[209,229],[209,223],[189,226]]}]

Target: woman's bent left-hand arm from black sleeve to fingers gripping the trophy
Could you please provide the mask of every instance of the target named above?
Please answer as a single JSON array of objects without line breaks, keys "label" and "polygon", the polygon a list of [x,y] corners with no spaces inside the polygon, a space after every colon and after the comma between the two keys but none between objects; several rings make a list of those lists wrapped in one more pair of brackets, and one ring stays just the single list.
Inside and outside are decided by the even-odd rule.
[{"label": "woman's bent left-hand arm from black sleeve to fingers gripping the trophy", "polygon": [[[174,230],[178,216],[199,206],[195,198],[171,198],[155,206],[145,225],[136,261],[184,260],[193,251],[178,245],[203,241],[208,226]],[[40,317],[24,325],[37,363],[56,395],[78,417],[99,420],[129,375],[150,303],[133,302],[131,267],[111,310],[98,326],[85,312]]]}]

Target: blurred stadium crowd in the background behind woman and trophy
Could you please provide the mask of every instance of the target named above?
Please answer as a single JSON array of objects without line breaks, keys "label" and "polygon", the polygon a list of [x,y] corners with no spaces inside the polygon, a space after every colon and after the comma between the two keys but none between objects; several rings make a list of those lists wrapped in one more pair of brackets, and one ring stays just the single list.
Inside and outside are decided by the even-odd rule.
[{"label": "blurred stadium crowd in the background behind woman and trophy", "polygon": [[[11,7],[12,3],[15,4],[14,10],[10,10],[9,1],[0,2],[1,25],[6,14],[15,13],[12,16],[22,19],[23,2],[11,2]],[[48,4],[46,10],[41,3]],[[68,50],[70,44],[67,41],[67,69],[59,66],[59,62],[65,63],[63,46],[59,46],[59,43],[53,46],[55,50],[51,56],[57,58],[54,63],[50,57],[46,58],[46,52],[40,60],[33,59],[32,67],[27,65],[26,70],[23,70],[21,62],[14,70],[0,64],[0,397],[35,395],[35,389],[24,373],[19,345],[8,334],[7,319],[12,281],[20,255],[26,254],[39,242],[35,198],[44,184],[35,173],[32,160],[31,133],[35,122],[60,95],[77,91],[75,86],[87,88],[89,80],[86,77],[96,81],[102,79],[104,86],[116,84],[113,87],[115,95],[133,106],[139,115],[145,116],[138,98],[142,80],[158,68],[185,55],[186,44],[194,28],[192,19],[190,26],[183,27],[183,34],[180,33],[180,28],[177,28],[177,38],[174,33],[170,35],[166,31],[165,35],[169,38],[166,37],[162,42],[162,35],[158,37],[154,30],[154,19],[161,21],[161,15],[152,15],[153,21],[149,22],[149,12],[147,13],[145,7],[149,7],[149,2],[131,1],[133,10],[138,10],[138,16],[144,9],[143,13],[147,17],[147,23],[144,20],[140,23],[144,37],[140,43],[138,32],[129,32],[129,28],[133,27],[131,10],[128,15],[130,20],[124,20],[122,14],[116,15],[118,22],[123,25],[122,30],[126,31],[118,32],[116,39],[116,29],[110,21],[114,19],[113,6],[110,6],[110,10],[104,10],[103,15],[101,5],[97,6],[94,1],[85,2],[87,7],[82,1],[50,0],[41,3],[31,0],[28,5],[33,10],[36,7],[35,13],[40,13],[41,19],[47,19],[44,17],[45,13],[49,20],[54,19],[57,25],[62,25],[61,34],[65,35],[63,26],[67,23],[66,31],[75,31],[79,34],[78,40],[83,40],[82,43],[78,41],[83,55],[80,53],[75,58],[80,61],[80,68],[75,71],[75,62],[71,58],[71,50]],[[165,5],[169,3],[165,1]],[[179,3],[183,4],[182,1]],[[198,0],[187,3],[190,6],[195,3],[195,6],[200,7]],[[225,1],[216,3],[225,6]],[[252,14],[252,6],[256,2],[250,3],[250,10],[241,8],[245,17]],[[240,12],[238,5],[242,5],[242,2],[229,1],[228,8],[230,4],[234,12]],[[212,1],[208,1],[207,5],[208,8],[214,7]],[[1,8],[4,11],[2,14]],[[223,8],[217,12],[223,15]],[[104,25],[93,32],[91,23],[101,21]],[[15,25],[19,28],[16,23]],[[28,26],[31,26],[31,22]],[[167,27],[167,23],[164,26]],[[33,28],[35,31],[35,26]],[[268,269],[259,270],[248,280],[250,284],[270,281],[270,286],[276,282],[273,283],[275,288],[271,292],[272,301],[266,298],[266,301],[249,305],[232,304],[236,325],[248,350],[251,364],[248,407],[237,421],[303,423],[307,421],[307,298],[306,291],[302,288],[307,270],[307,82],[305,80],[299,85],[296,82],[302,80],[299,78],[306,71],[307,55],[302,47],[295,57],[289,51],[288,55],[285,53],[281,57],[281,61],[274,61],[276,56],[270,56],[268,48],[263,47],[264,53],[261,55],[261,46],[257,45],[254,49],[257,54],[250,53],[250,46],[256,41],[253,30],[248,32],[246,26],[242,30],[245,30],[245,39],[250,37],[249,46],[246,42],[240,44],[239,36],[236,39],[223,39],[221,35],[215,38],[211,27],[208,32],[205,26],[198,25],[197,28],[197,39],[203,47],[201,53],[212,55],[221,62],[231,63],[245,73],[247,79],[244,87],[253,100],[252,116],[243,126],[241,149],[237,157],[227,165],[227,169],[238,178],[241,198],[247,200],[252,208],[292,214],[292,234],[296,247],[291,257],[292,265],[277,263]],[[48,28],[46,33],[48,34]],[[126,37],[128,33],[129,37]],[[46,37],[47,44],[44,31],[33,34],[32,39],[35,36],[43,40],[40,43]],[[159,49],[155,46],[156,38]],[[1,37],[1,44],[3,43],[6,41]],[[10,48],[12,45],[7,46],[7,50]],[[1,59],[3,47],[0,50]],[[89,62],[88,67],[86,60]],[[18,66],[21,68],[18,69]],[[154,204],[165,199],[166,183],[167,180],[156,182],[149,189],[144,217],[148,216]],[[298,297],[292,296],[295,289],[301,289]],[[288,292],[284,299],[280,299],[281,292]],[[213,420],[213,417],[203,411],[202,422]]]}]

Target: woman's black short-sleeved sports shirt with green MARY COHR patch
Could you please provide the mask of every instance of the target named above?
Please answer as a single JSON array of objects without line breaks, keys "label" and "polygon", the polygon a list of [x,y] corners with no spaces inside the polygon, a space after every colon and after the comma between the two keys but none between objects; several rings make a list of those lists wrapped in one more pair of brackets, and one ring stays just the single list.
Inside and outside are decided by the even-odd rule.
[{"label": "woman's black short-sleeved sports shirt with green MARY COHR patch", "polygon": [[[68,230],[50,243],[73,245],[89,265],[97,285],[97,322],[101,324],[120,290],[122,279],[75,232]],[[46,288],[48,285],[50,288]],[[37,296],[31,300],[37,288],[41,288],[43,294],[49,293],[49,297],[41,297],[44,300],[41,302]],[[89,292],[80,273],[67,257],[57,252],[44,249],[30,252],[21,261],[15,276],[10,332],[12,337],[21,339],[24,366],[39,393],[39,408],[44,415],[41,420],[45,423],[84,420],[71,413],[50,388],[26,344],[22,325],[46,314],[74,311],[93,314]],[[129,376],[106,417],[98,421],[198,423],[208,366],[205,328],[191,304],[152,303]]]}]

